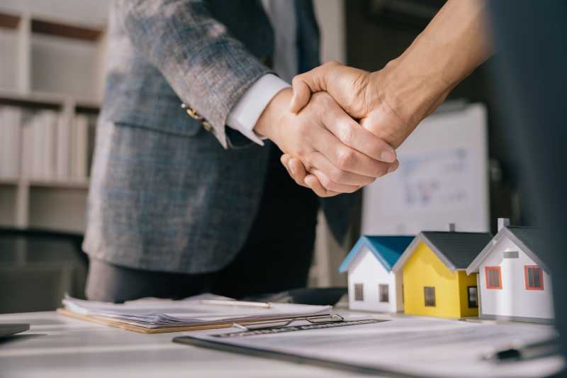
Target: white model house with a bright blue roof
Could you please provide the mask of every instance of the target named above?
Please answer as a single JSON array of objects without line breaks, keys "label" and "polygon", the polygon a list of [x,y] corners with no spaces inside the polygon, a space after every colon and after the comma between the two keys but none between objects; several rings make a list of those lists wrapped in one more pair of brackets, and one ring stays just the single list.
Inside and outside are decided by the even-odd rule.
[{"label": "white model house with a bright blue roof", "polygon": [[392,267],[411,236],[362,235],[339,267],[349,272],[349,307],[353,310],[403,311],[401,272]]}]

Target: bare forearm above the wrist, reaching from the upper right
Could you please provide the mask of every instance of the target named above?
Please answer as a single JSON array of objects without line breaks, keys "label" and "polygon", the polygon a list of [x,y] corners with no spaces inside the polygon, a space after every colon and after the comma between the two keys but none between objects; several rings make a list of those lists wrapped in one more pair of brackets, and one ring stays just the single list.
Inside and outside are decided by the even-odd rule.
[{"label": "bare forearm above the wrist, reaching from the upper right", "polygon": [[483,0],[449,0],[405,52],[384,69],[387,101],[419,123],[492,52]]}]

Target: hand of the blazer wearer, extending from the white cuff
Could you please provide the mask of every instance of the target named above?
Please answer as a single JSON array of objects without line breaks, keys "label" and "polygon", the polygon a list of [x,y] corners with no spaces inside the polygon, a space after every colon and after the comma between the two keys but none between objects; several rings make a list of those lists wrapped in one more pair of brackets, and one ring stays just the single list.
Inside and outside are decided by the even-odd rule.
[{"label": "hand of the blazer wearer, extending from the white cuff", "polygon": [[325,188],[322,195],[352,193],[396,161],[393,148],[344,113],[329,94],[313,94],[297,114],[288,111],[291,96],[291,89],[276,94],[254,130],[301,160]]}]

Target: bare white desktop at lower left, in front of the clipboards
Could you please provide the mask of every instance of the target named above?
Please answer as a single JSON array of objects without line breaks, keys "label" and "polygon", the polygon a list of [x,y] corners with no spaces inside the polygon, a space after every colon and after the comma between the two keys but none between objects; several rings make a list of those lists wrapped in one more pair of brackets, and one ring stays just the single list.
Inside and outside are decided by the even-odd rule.
[{"label": "bare white desktop at lower left, in front of the clipboards", "polygon": [[1,378],[360,377],[180,345],[172,338],[183,333],[145,335],[51,311],[0,315],[0,323],[31,325],[27,332],[0,341]]}]

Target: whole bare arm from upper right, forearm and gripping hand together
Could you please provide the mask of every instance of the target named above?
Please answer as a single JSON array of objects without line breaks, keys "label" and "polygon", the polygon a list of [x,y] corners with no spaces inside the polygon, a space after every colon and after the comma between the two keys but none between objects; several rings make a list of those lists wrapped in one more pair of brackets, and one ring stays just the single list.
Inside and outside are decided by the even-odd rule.
[{"label": "whole bare arm from upper right, forearm and gripping hand together", "polygon": [[361,126],[397,148],[490,55],[484,7],[481,0],[448,0],[410,47],[380,71],[330,62],[298,75],[291,111],[305,106],[311,92],[327,91]]}]

